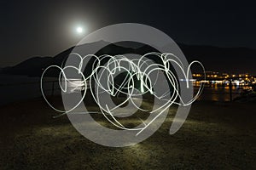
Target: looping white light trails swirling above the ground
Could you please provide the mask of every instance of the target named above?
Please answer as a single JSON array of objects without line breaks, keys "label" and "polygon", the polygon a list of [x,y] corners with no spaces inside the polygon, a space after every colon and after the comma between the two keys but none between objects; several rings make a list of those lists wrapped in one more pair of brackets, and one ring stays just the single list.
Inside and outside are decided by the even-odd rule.
[{"label": "looping white light trails swirling above the ground", "polygon": [[[78,29],[79,29],[77,30],[78,32],[83,31],[83,30],[80,30],[80,28]],[[183,105],[183,106],[191,105],[195,101],[195,99],[199,97],[203,88],[203,84],[201,83],[201,86],[198,92],[195,94],[195,96],[192,99],[190,99],[189,102],[183,101],[183,99],[181,98],[181,95],[179,94],[179,81],[181,81],[182,79],[182,81],[186,82],[187,88],[193,88],[193,87],[190,87],[191,85],[189,86],[189,82],[191,82],[191,79],[189,79],[189,71],[190,71],[191,65],[195,65],[195,64],[200,65],[203,72],[205,72],[205,70],[201,62],[196,60],[191,62],[189,64],[189,67],[185,69],[181,60],[178,59],[178,57],[175,56],[174,54],[160,54],[160,53],[152,52],[152,53],[144,54],[143,56],[141,56],[140,59],[128,59],[125,57],[125,55],[111,56],[108,54],[104,54],[99,57],[97,57],[94,54],[85,55],[84,57],[75,53],[71,55],[76,55],[77,57],[79,57],[80,59],[79,68],[73,65],[68,65],[63,68],[57,65],[50,65],[48,68],[44,70],[43,75],[41,77],[41,92],[43,94],[44,99],[46,100],[47,104],[51,108],[53,108],[55,111],[61,112],[61,116],[67,113],[72,113],[72,111],[75,108],[77,108],[78,105],[80,105],[81,102],[84,100],[86,91],[90,90],[91,94],[93,94],[92,95],[93,99],[96,101],[96,104],[99,106],[102,115],[108,120],[108,122],[111,122],[115,127],[119,127],[120,129],[136,130],[138,131],[137,133],[138,135],[139,133],[142,133],[143,130],[146,129],[152,122],[154,122],[155,119],[159,117],[161,113],[163,113],[163,111],[166,111],[167,109],[169,109],[171,105],[173,104]],[[154,55],[155,59],[160,59],[162,64],[159,64],[159,63],[148,64],[147,62],[148,55]],[[92,66],[93,69],[91,70],[90,76],[85,77],[82,71],[82,68],[84,68],[83,67],[84,60],[91,57],[94,57],[96,59],[93,63],[93,66]],[[103,59],[105,60],[108,59],[107,64],[102,65]],[[128,66],[125,67],[122,64],[125,64]],[[175,76],[175,74],[171,71],[172,65],[176,65],[177,68],[180,69],[180,71],[183,73],[182,78],[178,79]],[[52,69],[52,68],[57,68],[60,70],[59,85],[62,92],[64,93],[74,92],[75,90],[80,89],[81,87],[83,87],[84,89],[84,94],[82,98],[79,100],[78,104],[74,105],[73,108],[71,108],[69,111],[61,111],[56,109],[53,105],[49,103],[48,99],[46,99],[45,97],[44,89],[43,89],[43,78],[44,78],[44,74],[47,71],[49,71],[49,69]],[[72,79],[68,79],[66,75],[67,69],[74,69],[75,71],[77,71],[78,74],[81,75],[82,80],[73,81]],[[116,85],[113,75],[119,71],[125,71],[127,74],[125,76],[125,81],[122,82],[121,84]],[[172,85],[173,92],[171,94],[170,99],[165,99],[166,94],[171,93],[170,91],[166,91],[164,94],[161,94],[161,95],[154,93],[154,86],[156,85],[156,82],[159,80],[158,80],[158,76],[155,77],[153,80],[150,77],[150,74],[153,72],[160,72],[160,71],[165,73],[166,82]],[[104,86],[102,84],[102,77],[108,77],[107,86]],[[136,88],[135,80],[138,80],[140,82],[140,86],[139,86],[140,90]],[[92,87],[92,84],[94,83],[92,82],[95,82],[97,87],[97,92],[99,92],[99,90],[102,90],[102,92],[100,91],[99,93],[94,94],[94,92],[92,91],[92,89],[94,88]],[[87,85],[87,83],[89,84]],[[72,86],[68,84],[72,84]],[[67,91],[67,88],[72,88],[72,89]],[[108,105],[102,105],[101,102],[99,101],[101,98],[100,94],[102,93],[107,93],[108,95],[112,95],[112,96],[125,94],[127,96],[127,99],[125,99],[124,102],[122,102],[119,105],[116,105],[113,108],[108,108]],[[156,99],[166,100],[165,105],[161,105],[159,108],[155,109],[154,111],[149,112],[150,114],[152,114],[152,113],[156,113],[156,111],[160,111],[154,116],[154,118],[150,122],[146,123],[146,122],[143,122],[143,120],[141,120],[143,122],[143,127],[127,128],[115,118],[113,111],[119,108],[120,106],[124,105],[125,102],[128,100],[131,101],[131,103],[134,105],[134,107],[137,108],[137,110],[145,111],[141,109],[138,105],[136,105],[135,99],[137,99],[138,95],[143,95],[147,93],[153,94],[154,98]],[[179,99],[178,103],[177,103],[177,99]],[[110,119],[107,115],[111,116],[112,119]]]}]

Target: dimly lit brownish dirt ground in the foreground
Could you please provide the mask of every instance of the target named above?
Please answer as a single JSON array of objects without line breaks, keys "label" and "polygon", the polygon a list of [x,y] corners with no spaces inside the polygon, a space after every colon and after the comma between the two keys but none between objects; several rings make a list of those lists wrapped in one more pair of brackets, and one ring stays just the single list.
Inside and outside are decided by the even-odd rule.
[{"label": "dimly lit brownish dirt ground in the foreground", "polygon": [[[170,112],[176,111],[175,108]],[[113,148],[79,134],[43,99],[0,108],[0,169],[256,169],[256,103],[197,101],[169,134]]]}]

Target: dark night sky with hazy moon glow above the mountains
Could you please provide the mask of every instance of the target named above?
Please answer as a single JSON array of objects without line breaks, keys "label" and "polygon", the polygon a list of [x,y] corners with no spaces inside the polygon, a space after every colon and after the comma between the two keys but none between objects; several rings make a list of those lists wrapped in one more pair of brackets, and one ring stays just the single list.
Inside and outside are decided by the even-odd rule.
[{"label": "dark night sky with hazy moon glow above the mountains", "polygon": [[209,2],[2,0],[0,67],[72,47],[83,37],[76,26],[85,35],[123,22],[154,26],[184,44],[256,49],[255,4]]}]

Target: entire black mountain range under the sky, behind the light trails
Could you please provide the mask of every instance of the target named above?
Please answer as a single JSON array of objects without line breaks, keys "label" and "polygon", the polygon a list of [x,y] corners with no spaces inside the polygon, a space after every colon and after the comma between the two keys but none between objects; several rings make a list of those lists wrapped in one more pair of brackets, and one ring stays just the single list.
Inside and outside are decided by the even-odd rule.
[{"label": "entire black mountain range under the sky, behind the light trails", "polygon": [[[127,45],[128,44],[128,45]],[[149,52],[158,52],[155,48],[138,42],[91,42],[67,50],[55,55],[54,57],[32,57],[26,59],[18,65],[5,67],[0,70],[2,74],[26,75],[30,77],[40,77],[45,68],[49,65],[61,66],[72,52],[83,56],[83,52],[90,54],[94,47],[103,47],[96,52],[96,55],[102,54],[147,54]],[[178,44],[188,61],[200,60],[205,65],[207,71],[226,71],[226,72],[249,72],[254,73],[255,64],[251,59],[256,57],[256,50],[252,48],[218,48],[212,46],[185,45]],[[152,58],[153,59],[153,58]],[[254,59],[255,60],[255,59]],[[92,61],[90,61],[92,62]],[[157,61],[158,62],[158,61]],[[90,69],[89,69],[90,70]],[[56,77],[59,71],[49,71],[48,76]]]}]

